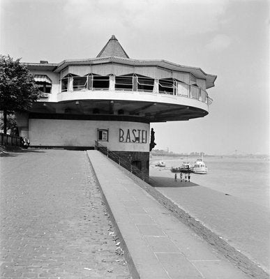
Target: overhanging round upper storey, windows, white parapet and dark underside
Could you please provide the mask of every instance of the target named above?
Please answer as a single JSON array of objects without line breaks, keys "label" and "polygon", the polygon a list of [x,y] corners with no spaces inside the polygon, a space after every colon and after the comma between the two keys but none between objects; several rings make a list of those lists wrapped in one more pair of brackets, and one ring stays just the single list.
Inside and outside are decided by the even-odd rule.
[{"label": "overhanging round upper storey, windows, white parapet and dark underside", "polygon": [[198,86],[139,75],[67,76],[61,80],[61,92],[52,95],[48,103],[38,102],[45,112],[121,114],[143,117],[149,122],[203,117],[211,103],[207,91]]}]

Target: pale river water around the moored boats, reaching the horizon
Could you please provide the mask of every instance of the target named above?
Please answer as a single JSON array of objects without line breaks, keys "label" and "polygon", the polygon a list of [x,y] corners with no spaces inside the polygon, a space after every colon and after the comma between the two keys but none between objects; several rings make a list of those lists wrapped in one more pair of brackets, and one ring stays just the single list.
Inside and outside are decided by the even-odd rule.
[{"label": "pale river water around the moored boats, reaching the horizon", "polygon": [[[197,158],[188,158],[194,163]],[[155,167],[163,160],[166,167]],[[179,167],[186,158],[158,158],[150,160],[150,176],[174,177],[171,167]],[[269,158],[204,157],[208,174],[191,174],[193,183],[227,193],[235,197],[269,207]],[[179,174],[178,174],[179,175]]]}]

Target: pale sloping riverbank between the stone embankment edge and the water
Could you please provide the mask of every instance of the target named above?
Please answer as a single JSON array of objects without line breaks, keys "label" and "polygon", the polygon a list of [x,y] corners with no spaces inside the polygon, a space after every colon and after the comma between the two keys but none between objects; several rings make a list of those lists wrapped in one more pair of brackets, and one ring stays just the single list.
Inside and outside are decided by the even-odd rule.
[{"label": "pale sloping riverbank between the stone embankment edge and the water", "polygon": [[269,273],[269,210],[194,183],[175,182],[151,169],[156,190]]}]

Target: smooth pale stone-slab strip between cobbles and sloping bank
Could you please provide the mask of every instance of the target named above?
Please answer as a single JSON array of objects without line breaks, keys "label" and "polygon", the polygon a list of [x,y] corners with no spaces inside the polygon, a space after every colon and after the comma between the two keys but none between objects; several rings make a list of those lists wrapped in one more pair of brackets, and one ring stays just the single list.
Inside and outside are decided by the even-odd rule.
[{"label": "smooth pale stone-slab strip between cobbles and sloping bank", "polygon": [[[141,279],[250,278],[98,151],[87,151],[121,232],[130,269]],[[135,276],[136,273],[134,272]]]}]

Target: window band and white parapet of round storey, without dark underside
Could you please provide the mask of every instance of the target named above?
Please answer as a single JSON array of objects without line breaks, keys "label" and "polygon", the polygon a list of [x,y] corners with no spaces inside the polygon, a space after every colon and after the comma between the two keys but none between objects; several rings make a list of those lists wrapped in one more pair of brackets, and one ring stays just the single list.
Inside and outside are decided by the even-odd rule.
[{"label": "window band and white parapet of round storey, without dark underside", "polygon": [[[104,94],[110,92],[110,96]],[[207,91],[204,91],[198,86],[191,84],[184,84],[174,79],[156,80],[150,77],[143,77],[139,75],[123,75],[123,76],[100,76],[100,75],[87,75],[87,76],[74,76],[68,75],[61,80],[61,93],[58,94],[57,100],[59,102],[68,100],[89,100],[89,99],[118,99],[121,96],[123,100],[129,100],[130,94],[121,94],[122,92],[130,93],[132,96],[139,96],[137,93],[144,93],[146,101],[150,96],[167,96],[167,97],[184,97],[194,100],[199,100],[202,103],[210,105]],[[79,95],[80,93],[80,95]],[[97,96],[98,94],[98,96]],[[148,98],[147,98],[148,96]],[[142,95],[140,94],[140,99]],[[131,98],[132,100],[133,98]],[[144,98],[143,98],[144,99]],[[151,101],[153,99],[151,98]],[[170,103],[170,102],[169,102]],[[173,102],[174,103],[174,102]],[[184,102],[186,103],[186,102]]]}]

